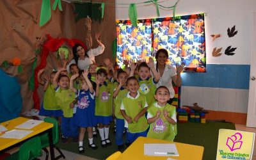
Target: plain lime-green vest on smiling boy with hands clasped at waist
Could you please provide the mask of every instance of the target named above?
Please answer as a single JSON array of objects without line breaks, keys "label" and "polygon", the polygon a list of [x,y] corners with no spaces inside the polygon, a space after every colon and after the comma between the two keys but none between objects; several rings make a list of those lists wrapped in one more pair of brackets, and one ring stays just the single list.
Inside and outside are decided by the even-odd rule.
[{"label": "plain lime-green vest on smiling boy with hands clasped at waist", "polygon": [[[124,104],[124,110],[126,115],[130,116],[133,120],[134,117],[143,110],[146,99],[144,95],[140,95],[137,99],[130,99],[128,97],[125,97],[122,102]],[[141,116],[138,122],[132,121],[131,124],[128,124],[128,129],[131,133],[143,132],[146,131],[147,128],[148,123],[145,115]]]}]

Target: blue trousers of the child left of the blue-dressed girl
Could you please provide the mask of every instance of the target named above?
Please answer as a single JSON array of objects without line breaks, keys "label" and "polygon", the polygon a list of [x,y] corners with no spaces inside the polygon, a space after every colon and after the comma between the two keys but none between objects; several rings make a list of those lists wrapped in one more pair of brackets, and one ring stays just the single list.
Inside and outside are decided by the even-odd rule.
[{"label": "blue trousers of the child left of the blue-dressed girl", "polygon": [[75,124],[75,114],[73,117],[67,118],[61,116],[61,134],[62,136],[68,137],[78,137],[78,127]]}]

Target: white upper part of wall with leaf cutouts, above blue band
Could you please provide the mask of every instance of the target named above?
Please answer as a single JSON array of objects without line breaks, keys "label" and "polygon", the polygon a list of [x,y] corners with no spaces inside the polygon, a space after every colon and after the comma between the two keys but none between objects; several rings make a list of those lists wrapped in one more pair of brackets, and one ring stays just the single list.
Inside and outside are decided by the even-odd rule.
[{"label": "white upper part of wall with leaf cutouts, above blue band", "polygon": [[[129,5],[120,3],[140,3],[147,0],[127,1],[116,0],[116,20],[129,19]],[[164,1],[164,0],[163,0]],[[164,1],[163,6],[173,6],[176,1]],[[156,18],[154,4],[137,4],[138,19]],[[172,17],[172,10],[159,8],[161,17]],[[255,0],[180,0],[175,15],[205,13],[205,38],[207,64],[249,65],[252,44],[252,13],[256,12]],[[229,38],[227,29],[236,25],[237,35]],[[221,37],[212,42],[212,34]],[[224,54],[225,49],[232,45],[237,47],[234,56]],[[222,47],[222,55],[212,56],[214,47]]]}]

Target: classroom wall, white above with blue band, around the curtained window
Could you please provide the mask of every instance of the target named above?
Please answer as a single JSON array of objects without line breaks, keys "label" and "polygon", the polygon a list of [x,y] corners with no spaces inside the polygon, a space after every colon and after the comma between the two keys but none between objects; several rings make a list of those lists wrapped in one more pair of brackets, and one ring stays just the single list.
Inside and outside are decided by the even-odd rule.
[{"label": "classroom wall, white above with blue band, around the curtained window", "polygon": [[[143,2],[141,0],[134,3]],[[127,3],[116,0],[116,19],[129,19]],[[163,6],[173,6],[176,1],[163,1]],[[248,106],[250,56],[252,44],[252,15],[256,12],[255,0],[180,0],[175,15],[205,13],[206,73],[182,73],[181,105],[199,106],[217,115],[211,118],[234,121],[236,113],[243,116],[238,124],[245,124]],[[152,4],[137,4],[138,19],[156,18],[156,7]],[[161,17],[172,17],[172,10],[159,8]],[[229,38],[227,29],[236,25],[237,35]],[[212,42],[212,34],[221,34]],[[231,45],[237,47],[234,56],[224,54]],[[212,56],[214,47],[222,47],[222,55]],[[218,114],[220,111],[225,114]],[[210,112],[211,113],[211,112]],[[230,113],[229,118],[227,118]],[[234,114],[235,113],[235,114]],[[222,116],[220,116],[222,115]],[[226,117],[225,117],[226,116]]]}]

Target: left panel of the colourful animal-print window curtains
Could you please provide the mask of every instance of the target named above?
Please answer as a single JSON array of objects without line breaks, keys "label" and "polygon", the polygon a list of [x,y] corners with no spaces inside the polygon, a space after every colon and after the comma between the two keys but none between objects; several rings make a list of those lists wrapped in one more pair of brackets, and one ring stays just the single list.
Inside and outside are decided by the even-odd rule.
[{"label": "left panel of the colourful animal-print window curtains", "polygon": [[152,22],[140,20],[134,28],[129,20],[116,22],[116,63],[124,67],[124,60],[142,60],[152,56]]}]

